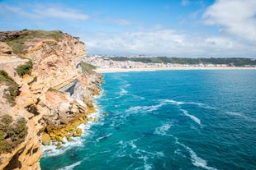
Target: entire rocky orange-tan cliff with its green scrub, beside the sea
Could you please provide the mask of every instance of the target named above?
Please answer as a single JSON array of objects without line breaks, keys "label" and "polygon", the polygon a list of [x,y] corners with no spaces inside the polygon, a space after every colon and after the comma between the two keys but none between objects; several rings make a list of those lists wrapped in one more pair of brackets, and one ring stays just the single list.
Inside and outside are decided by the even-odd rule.
[{"label": "entire rocky orange-tan cliff with its green scrub, beside the sea", "polygon": [[0,169],[40,169],[40,143],[81,135],[101,83],[80,63],[85,55],[83,42],[60,31],[0,32],[0,143],[9,144]]}]

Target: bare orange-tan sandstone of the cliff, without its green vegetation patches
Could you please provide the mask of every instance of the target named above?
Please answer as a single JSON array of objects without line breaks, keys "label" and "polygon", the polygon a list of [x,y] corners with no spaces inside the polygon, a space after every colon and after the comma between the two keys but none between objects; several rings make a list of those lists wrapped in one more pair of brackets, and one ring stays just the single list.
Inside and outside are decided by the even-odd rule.
[{"label": "bare orange-tan sandstone of the cliff, without its green vegetation patches", "polygon": [[[25,33],[31,34],[31,31],[20,33],[17,31],[1,37],[17,38],[25,36]],[[86,115],[96,112],[91,99],[94,94],[99,94],[100,89],[95,85],[95,82],[100,82],[97,81],[99,75],[83,75],[77,71],[77,64],[85,56],[86,50],[83,43],[70,35],[64,34],[59,41],[50,37],[28,39],[24,48],[31,48],[23,51],[27,50],[24,57],[32,60],[33,71],[31,76],[24,76],[23,79],[17,76],[15,68],[28,60],[17,57],[12,53],[12,48],[7,46],[1,48],[2,46],[0,43],[0,69],[7,70],[8,74],[21,85],[21,94],[17,98],[17,105],[13,108],[4,105],[6,102],[0,98],[0,111],[26,117],[29,131],[26,141],[17,146],[12,154],[0,155],[0,169],[11,166],[10,161],[14,155],[18,155],[17,160],[21,163],[21,169],[40,169],[41,151],[38,132],[41,132],[43,145],[50,145],[51,141],[56,140],[63,142],[64,136],[67,140],[72,140],[70,136],[82,136],[82,130],[77,129],[77,126],[88,121]],[[73,81],[78,81],[73,94],[58,91],[59,88]],[[50,88],[57,91],[48,91]],[[1,90],[3,90],[2,86],[0,93]],[[83,102],[84,99],[87,99],[87,103]],[[35,106],[40,114],[35,116],[28,113],[24,107],[29,105]],[[62,147],[59,142],[57,145],[58,148]]]}]

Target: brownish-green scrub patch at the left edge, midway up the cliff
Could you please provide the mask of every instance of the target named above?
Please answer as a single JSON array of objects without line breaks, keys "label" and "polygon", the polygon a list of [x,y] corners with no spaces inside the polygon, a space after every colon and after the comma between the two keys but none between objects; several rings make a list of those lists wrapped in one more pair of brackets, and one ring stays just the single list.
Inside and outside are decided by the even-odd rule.
[{"label": "brownish-green scrub patch at the left edge, midway up the cliff", "polygon": [[8,76],[6,71],[0,70],[0,84],[7,85],[8,88],[4,90],[3,97],[7,99],[11,105],[15,104],[15,98],[20,93],[19,85],[12,77]]}]

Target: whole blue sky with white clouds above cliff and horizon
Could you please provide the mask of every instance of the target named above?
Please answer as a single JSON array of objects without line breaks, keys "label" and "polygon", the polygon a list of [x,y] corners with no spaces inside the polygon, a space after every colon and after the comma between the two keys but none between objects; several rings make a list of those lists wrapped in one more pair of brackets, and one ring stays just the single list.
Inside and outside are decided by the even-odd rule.
[{"label": "whole blue sky with white clouds above cliff and horizon", "polygon": [[88,54],[256,58],[256,0],[0,0],[0,31],[23,29]]}]

